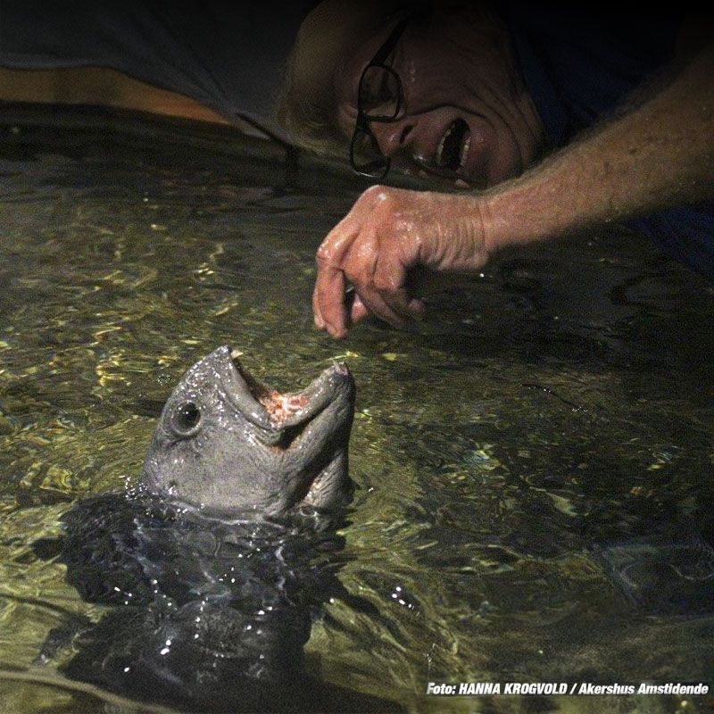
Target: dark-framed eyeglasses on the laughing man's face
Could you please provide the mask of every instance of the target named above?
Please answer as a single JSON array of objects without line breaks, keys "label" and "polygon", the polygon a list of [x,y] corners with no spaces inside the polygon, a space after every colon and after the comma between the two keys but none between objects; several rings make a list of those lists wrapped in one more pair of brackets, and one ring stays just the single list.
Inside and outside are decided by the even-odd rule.
[{"label": "dark-framed eyeglasses on the laughing man's face", "polygon": [[357,124],[350,142],[350,164],[361,176],[384,179],[389,171],[389,157],[382,154],[377,137],[369,129],[369,122],[402,118],[402,80],[385,61],[410,20],[411,16],[407,16],[397,22],[361,74],[357,90]]}]

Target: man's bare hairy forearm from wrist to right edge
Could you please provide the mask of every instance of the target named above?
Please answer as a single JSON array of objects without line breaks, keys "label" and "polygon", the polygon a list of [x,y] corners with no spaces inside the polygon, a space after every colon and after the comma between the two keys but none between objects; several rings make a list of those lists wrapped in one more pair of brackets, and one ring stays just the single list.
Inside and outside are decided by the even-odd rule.
[{"label": "man's bare hairy forearm from wrist to right edge", "polygon": [[482,195],[489,251],[714,197],[714,47],[616,120]]}]

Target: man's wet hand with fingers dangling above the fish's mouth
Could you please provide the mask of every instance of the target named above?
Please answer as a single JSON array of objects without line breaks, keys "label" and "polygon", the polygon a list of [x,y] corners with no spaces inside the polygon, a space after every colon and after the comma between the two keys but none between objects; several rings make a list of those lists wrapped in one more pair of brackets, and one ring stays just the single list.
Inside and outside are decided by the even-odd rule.
[{"label": "man's wet hand with fingers dangling above the fish's mouth", "polygon": [[471,272],[483,266],[488,248],[482,211],[473,195],[368,188],[318,250],[315,325],[344,337],[369,314],[394,327],[418,318],[424,306],[409,294],[409,271],[422,266]]}]

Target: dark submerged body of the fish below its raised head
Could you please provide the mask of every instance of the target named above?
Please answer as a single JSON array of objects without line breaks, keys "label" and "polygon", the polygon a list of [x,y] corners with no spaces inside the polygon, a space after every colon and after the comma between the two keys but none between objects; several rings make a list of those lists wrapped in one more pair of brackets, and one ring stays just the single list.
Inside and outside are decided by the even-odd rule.
[{"label": "dark submerged body of the fish below its raised head", "polygon": [[62,517],[60,560],[82,598],[107,611],[74,635],[62,674],[188,711],[399,710],[303,666],[323,602],[364,607],[337,577],[334,516],[227,522],[146,492],[79,502]]}]

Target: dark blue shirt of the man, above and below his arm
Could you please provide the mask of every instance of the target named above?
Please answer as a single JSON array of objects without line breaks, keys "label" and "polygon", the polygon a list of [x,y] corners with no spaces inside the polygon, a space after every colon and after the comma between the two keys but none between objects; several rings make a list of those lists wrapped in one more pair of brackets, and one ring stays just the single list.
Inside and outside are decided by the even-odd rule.
[{"label": "dark blue shirt of the man, above and below his arm", "polygon": [[[591,6],[592,7],[592,6]],[[520,69],[552,146],[607,119],[636,87],[673,59],[684,11],[601,12],[558,4],[503,5]],[[630,220],[669,255],[714,280],[714,203],[681,206]]]}]

